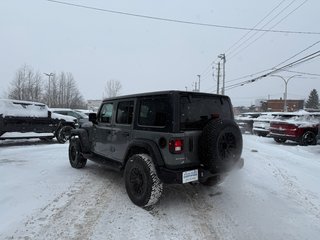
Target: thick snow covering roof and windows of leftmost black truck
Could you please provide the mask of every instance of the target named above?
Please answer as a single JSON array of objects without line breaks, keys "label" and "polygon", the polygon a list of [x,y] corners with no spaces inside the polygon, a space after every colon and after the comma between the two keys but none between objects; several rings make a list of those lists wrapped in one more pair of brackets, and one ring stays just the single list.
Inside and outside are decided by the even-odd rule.
[{"label": "thick snow covering roof and windows of leftmost black truck", "polygon": [[31,101],[0,99],[0,115],[14,117],[48,117],[48,106]]}]

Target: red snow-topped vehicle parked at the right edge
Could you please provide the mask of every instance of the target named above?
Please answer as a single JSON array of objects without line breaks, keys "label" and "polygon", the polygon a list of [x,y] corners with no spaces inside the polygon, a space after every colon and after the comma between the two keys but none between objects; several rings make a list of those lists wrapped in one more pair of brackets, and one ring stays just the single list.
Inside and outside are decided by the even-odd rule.
[{"label": "red snow-topped vehicle parked at the right edge", "polygon": [[308,113],[289,120],[273,121],[270,125],[270,137],[278,143],[291,140],[300,145],[316,145],[319,125],[320,113]]}]

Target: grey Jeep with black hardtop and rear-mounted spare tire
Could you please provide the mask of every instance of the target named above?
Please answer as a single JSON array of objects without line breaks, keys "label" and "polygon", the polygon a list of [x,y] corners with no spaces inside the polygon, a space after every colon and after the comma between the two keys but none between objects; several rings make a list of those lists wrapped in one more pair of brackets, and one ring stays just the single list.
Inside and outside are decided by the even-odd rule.
[{"label": "grey Jeep with black hardtop and rear-mounted spare tire", "polygon": [[163,183],[214,185],[241,158],[242,135],[229,97],[165,91],[105,99],[89,123],[72,130],[69,160],[124,171],[138,206],[156,203]]}]

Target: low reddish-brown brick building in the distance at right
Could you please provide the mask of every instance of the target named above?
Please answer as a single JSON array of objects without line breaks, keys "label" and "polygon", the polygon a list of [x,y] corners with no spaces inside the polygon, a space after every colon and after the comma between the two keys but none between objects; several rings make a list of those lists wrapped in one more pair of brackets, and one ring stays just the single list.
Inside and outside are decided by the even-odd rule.
[{"label": "low reddish-brown brick building in the distance at right", "polygon": [[[288,112],[298,111],[303,109],[304,100],[287,100]],[[262,109],[264,112],[283,112],[284,100],[283,99],[270,99],[262,103]]]}]

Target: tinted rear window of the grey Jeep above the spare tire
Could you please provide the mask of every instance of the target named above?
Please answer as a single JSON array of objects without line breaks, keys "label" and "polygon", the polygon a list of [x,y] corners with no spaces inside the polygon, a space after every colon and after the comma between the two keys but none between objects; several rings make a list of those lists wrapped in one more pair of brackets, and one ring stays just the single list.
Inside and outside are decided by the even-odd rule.
[{"label": "tinted rear window of the grey Jeep above the spare tire", "polygon": [[180,97],[181,130],[200,130],[215,116],[233,119],[228,98],[192,94]]}]

